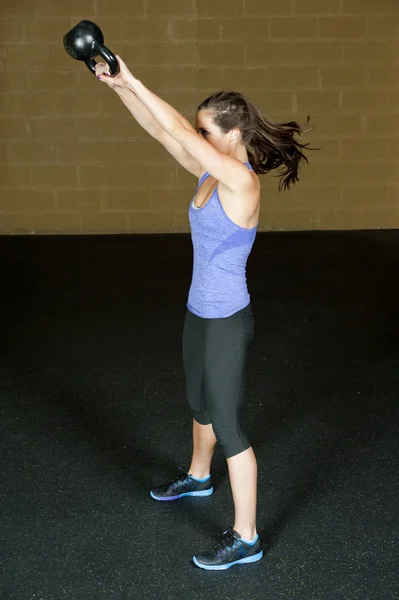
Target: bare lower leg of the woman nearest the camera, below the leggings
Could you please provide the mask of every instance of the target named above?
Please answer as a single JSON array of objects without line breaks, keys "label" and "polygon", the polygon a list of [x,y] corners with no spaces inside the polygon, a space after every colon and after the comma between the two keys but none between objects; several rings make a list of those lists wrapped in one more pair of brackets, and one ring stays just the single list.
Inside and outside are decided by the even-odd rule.
[{"label": "bare lower leg of the woman nearest the camera, below the leggings", "polygon": [[227,459],[234,501],[234,529],[246,540],[256,536],[258,468],[252,448]]}]

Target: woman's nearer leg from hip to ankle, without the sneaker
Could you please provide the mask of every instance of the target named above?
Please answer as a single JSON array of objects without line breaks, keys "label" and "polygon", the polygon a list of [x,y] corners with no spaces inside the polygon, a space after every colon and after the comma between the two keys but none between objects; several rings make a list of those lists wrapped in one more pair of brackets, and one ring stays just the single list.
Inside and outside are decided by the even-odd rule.
[{"label": "woman's nearer leg from hip to ankle, without the sneaker", "polygon": [[207,408],[227,460],[233,494],[234,529],[247,540],[256,535],[257,463],[242,430],[247,353],[253,339],[251,306],[209,325],[206,353]]}]

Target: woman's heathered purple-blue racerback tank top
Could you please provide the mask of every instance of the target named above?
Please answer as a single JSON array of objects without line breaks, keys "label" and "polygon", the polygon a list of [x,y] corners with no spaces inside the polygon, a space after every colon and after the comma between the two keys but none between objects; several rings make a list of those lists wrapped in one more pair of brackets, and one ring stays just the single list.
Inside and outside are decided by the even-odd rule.
[{"label": "woman's heathered purple-blue racerback tank top", "polygon": [[[208,177],[209,173],[201,177],[194,198]],[[189,209],[194,264],[187,308],[206,319],[229,317],[250,302],[246,266],[257,227],[233,223],[223,210],[217,187],[202,208],[195,206],[194,198]]]}]

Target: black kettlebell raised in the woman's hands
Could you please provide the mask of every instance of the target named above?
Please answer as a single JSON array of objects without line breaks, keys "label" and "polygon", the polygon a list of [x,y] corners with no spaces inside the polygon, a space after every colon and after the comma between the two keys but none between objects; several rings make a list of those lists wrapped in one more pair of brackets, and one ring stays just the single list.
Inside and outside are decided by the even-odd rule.
[{"label": "black kettlebell raised in the woman's hands", "polygon": [[92,21],[81,21],[64,35],[64,48],[72,58],[83,60],[90,71],[96,74],[96,56],[108,63],[111,76],[119,73],[116,56],[104,46],[103,32]]}]

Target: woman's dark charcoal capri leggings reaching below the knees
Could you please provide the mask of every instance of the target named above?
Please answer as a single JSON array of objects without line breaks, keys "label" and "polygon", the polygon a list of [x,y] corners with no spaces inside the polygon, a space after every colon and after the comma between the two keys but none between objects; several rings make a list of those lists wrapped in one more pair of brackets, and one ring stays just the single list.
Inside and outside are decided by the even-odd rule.
[{"label": "woman's dark charcoal capri leggings reaching below the knees", "polygon": [[253,334],[251,304],[222,319],[204,319],[187,310],[183,366],[188,403],[198,423],[212,423],[226,458],[251,446],[241,428],[241,408]]}]

